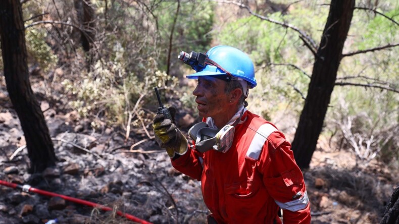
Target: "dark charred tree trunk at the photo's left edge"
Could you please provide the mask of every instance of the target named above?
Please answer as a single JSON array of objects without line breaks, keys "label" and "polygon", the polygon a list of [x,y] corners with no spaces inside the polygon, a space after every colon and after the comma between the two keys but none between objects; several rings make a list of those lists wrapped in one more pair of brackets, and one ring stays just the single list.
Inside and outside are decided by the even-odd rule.
[{"label": "dark charred tree trunk at the photo's left edge", "polygon": [[25,135],[30,173],[55,165],[54,146],[28,73],[25,28],[20,0],[0,1],[0,41],[4,76]]}]

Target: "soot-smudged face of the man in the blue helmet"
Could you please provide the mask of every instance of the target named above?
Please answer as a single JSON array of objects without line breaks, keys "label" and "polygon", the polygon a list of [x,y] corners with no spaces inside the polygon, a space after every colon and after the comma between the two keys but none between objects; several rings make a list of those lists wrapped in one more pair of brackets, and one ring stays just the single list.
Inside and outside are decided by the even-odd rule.
[{"label": "soot-smudged face of the man in the blue helmet", "polygon": [[[223,121],[226,111],[232,108],[229,96],[224,89],[226,82],[212,76],[198,77],[198,84],[192,94],[196,96],[198,114],[203,118],[211,117],[215,121]],[[228,121],[228,120],[227,120]]]}]

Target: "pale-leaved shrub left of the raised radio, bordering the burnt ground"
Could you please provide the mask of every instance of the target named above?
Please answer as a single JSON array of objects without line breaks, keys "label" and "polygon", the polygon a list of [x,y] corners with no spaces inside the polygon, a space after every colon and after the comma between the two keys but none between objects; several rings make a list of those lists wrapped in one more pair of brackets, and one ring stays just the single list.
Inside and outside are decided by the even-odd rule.
[{"label": "pale-leaved shrub left of the raised radio, bordering the burnt ground", "polygon": [[[122,73],[118,82],[116,73]],[[164,83],[167,81],[169,85],[165,87]],[[143,114],[140,111],[143,105],[157,105],[154,87],[173,91],[176,83],[175,77],[167,76],[161,71],[139,80],[133,73],[126,74],[121,64],[104,65],[101,61],[95,64],[92,72],[82,74],[82,79],[78,82],[62,82],[65,91],[73,94],[69,105],[77,110],[81,117],[103,114],[109,125],[126,125],[129,115]],[[138,122],[133,121],[132,125],[140,126]]]}]

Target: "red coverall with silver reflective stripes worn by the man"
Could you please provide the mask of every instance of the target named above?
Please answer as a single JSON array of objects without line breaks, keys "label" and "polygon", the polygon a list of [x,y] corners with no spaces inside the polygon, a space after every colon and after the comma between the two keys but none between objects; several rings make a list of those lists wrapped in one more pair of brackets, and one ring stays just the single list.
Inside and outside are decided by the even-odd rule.
[{"label": "red coverall with silver reflective stripes worn by the man", "polygon": [[198,181],[218,223],[310,223],[310,204],[290,143],[274,125],[245,111],[226,152],[191,147],[172,160]]}]

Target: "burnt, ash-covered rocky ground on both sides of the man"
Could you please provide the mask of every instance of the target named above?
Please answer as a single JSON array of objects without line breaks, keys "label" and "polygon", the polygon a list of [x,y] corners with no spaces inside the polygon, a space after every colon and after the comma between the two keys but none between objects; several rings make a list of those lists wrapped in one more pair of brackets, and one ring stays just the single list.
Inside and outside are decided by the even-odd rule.
[{"label": "burnt, ash-covered rocky ground on both sides of the man", "polygon": [[[0,180],[114,208],[102,211],[0,186],[0,223],[54,218],[60,223],[132,223],[116,210],[153,223],[206,223],[209,211],[200,183],[175,171],[143,130],[132,130],[141,134],[128,140],[117,129],[94,132],[90,120],[77,119],[76,111],[63,111],[45,97],[38,98],[59,161],[41,174],[28,174],[24,135],[4,80],[0,82]],[[40,93],[40,84],[33,81],[32,86]],[[352,153],[327,142],[319,140],[311,168],[304,171],[312,223],[378,223],[398,184],[398,172],[378,163],[361,170]]]}]

